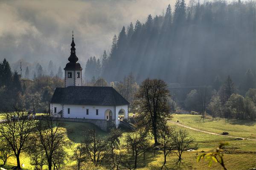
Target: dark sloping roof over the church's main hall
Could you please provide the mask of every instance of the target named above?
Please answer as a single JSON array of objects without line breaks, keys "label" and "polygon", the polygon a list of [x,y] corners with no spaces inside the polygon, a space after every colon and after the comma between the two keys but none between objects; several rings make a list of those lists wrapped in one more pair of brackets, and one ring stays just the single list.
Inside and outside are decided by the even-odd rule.
[{"label": "dark sloping roof over the church's main hall", "polygon": [[56,88],[51,103],[119,106],[130,103],[112,87],[69,86]]}]

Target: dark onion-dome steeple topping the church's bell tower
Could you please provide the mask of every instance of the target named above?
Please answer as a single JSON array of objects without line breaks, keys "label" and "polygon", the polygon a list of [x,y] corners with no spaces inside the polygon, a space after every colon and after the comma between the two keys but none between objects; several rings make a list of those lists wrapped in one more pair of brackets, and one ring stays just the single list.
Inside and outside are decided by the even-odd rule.
[{"label": "dark onion-dome steeple topping the church's bell tower", "polygon": [[76,57],[76,44],[74,42],[74,34],[72,31],[72,42],[71,42],[71,48],[70,48],[70,57],[68,57],[68,63],[64,70],[82,70],[81,65],[77,62],[78,57]]}]

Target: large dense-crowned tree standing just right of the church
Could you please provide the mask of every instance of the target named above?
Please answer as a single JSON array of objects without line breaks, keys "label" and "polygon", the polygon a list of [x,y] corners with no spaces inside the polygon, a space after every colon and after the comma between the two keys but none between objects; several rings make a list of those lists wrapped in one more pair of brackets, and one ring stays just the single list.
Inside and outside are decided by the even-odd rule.
[{"label": "large dense-crowned tree standing just right of the church", "polygon": [[151,131],[155,144],[158,144],[158,130],[164,127],[169,114],[169,96],[167,84],[159,79],[145,79],[136,94],[138,125]]}]

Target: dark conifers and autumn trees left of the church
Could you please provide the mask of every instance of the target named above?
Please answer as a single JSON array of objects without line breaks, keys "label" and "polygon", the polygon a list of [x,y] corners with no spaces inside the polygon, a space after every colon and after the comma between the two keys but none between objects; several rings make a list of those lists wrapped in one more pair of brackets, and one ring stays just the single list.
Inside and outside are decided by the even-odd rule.
[{"label": "dark conifers and autumn trees left of the church", "polygon": [[40,64],[36,65],[35,70],[31,80],[27,67],[25,76],[21,79],[20,72],[12,71],[6,59],[0,62],[0,111],[14,111],[16,107],[35,112],[48,109],[55,88],[64,84],[62,71],[59,76],[47,75]]}]

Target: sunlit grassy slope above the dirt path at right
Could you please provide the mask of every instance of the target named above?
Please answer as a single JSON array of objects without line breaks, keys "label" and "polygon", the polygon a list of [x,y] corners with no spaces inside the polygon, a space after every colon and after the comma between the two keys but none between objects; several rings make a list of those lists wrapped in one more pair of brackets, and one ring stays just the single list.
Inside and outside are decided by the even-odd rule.
[{"label": "sunlit grassy slope above the dirt path at right", "polygon": [[214,133],[228,132],[230,136],[256,139],[256,122],[236,119],[201,119],[199,115],[173,114],[172,121]]}]

